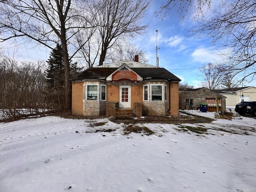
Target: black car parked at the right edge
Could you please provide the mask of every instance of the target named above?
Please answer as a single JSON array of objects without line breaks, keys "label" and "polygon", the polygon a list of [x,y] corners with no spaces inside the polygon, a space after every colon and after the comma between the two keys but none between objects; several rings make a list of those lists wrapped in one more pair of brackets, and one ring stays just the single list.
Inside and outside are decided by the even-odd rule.
[{"label": "black car parked at the right edge", "polygon": [[236,104],[235,111],[240,115],[251,114],[256,116],[256,101],[244,101]]}]

